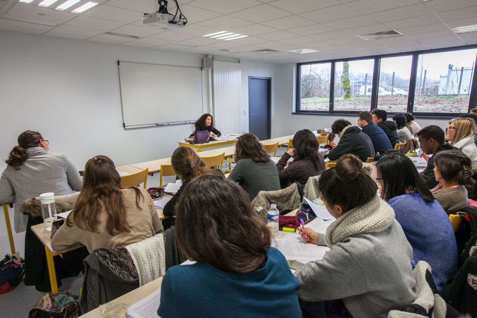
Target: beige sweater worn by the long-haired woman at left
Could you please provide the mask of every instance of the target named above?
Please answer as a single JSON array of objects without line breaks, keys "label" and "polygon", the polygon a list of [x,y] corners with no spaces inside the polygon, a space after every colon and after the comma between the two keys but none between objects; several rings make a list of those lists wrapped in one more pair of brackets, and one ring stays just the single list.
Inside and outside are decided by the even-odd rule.
[{"label": "beige sweater worn by the long-haired woman at left", "polygon": [[[123,192],[127,223],[132,226],[129,232],[122,232],[115,236],[110,235],[106,230],[107,214],[103,211],[99,216],[99,224],[96,227],[97,233],[83,230],[74,222],[73,226],[67,226],[65,223],[53,236],[53,249],[57,252],[64,252],[73,247],[85,245],[91,253],[95,248],[124,247],[154,236],[163,227],[151,197],[143,188],[139,189],[144,197],[139,200],[139,206],[142,210],[136,206],[133,189]],[[70,220],[73,221],[73,217],[70,217]]]}]

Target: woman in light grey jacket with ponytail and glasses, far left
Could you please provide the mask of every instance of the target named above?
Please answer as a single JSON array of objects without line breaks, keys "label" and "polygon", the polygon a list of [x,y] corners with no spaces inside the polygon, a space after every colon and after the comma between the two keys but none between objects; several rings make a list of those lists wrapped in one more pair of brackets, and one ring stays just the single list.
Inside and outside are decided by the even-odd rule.
[{"label": "woman in light grey jacket with ponytail and glasses, far left", "polygon": [[26,230],[28,215],[20,211],[21,202],[42,193],[69,195],[80,191],[83,180],[66,154],[51,153],[48,140],[31,130],[18,136],[5,160],[0,178],[0,203],[15,202],[15,232]]}]

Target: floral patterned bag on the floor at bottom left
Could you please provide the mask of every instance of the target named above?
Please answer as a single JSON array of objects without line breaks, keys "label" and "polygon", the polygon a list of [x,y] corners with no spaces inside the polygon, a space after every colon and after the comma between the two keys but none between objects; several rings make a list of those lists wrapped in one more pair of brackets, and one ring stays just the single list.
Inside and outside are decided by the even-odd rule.
[{"label": "floral patterned bag on the floor at bottom left", "polygon": [[58,294],[43,296],[30,310],[28,318],[76,318],[78,316],[81,316],[78,296],[65,290]]}]

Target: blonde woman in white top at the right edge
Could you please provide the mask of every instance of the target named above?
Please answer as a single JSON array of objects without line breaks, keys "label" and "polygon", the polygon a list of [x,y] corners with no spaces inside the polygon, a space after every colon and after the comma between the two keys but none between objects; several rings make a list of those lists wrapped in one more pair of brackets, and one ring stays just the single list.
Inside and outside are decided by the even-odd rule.
[{"label": "blonde woman in white top at the right edge", "polygon": [[472,119],[455,118],[447,124],[445,139],[449,144],[462,150],[474,167],[477,167],[477,146],[474,142],[476,132],[477,126]]}]

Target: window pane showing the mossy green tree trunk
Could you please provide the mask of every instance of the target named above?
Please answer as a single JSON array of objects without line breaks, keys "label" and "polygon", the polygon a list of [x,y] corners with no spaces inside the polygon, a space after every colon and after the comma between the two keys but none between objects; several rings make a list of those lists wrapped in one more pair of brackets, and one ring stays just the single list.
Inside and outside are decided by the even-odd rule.
[{"label": "window pane showing the mossy green tree trunk", "polygon": [[374,59],[336,62],[334,110],[369,111],[373,90]]}]

